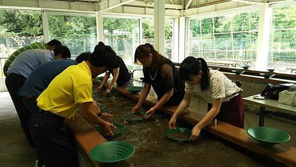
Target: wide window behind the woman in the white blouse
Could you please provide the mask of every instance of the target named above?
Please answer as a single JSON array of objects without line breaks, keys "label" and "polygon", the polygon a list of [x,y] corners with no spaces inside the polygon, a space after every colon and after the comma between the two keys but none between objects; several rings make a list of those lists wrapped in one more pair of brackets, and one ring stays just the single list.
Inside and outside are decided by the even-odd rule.
[{"label": "wide window behind the woman in the white blouse", "polygon": [[255,61],[258,20],[257,11],[190,20],[188,56]]}]

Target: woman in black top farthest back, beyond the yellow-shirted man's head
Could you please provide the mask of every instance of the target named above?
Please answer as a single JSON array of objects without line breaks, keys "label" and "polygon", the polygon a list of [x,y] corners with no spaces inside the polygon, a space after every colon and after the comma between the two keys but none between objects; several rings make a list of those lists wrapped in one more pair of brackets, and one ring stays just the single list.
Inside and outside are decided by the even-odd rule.
[{"label": "woman in black top farthest back, beyond the yellow-shirted man's head", "polygon": [[[100,46],[104,46],[104,44],[102,42],[99,42],[99,45],[97,45],[96,48]],[[106,89],[106,95],[110,94],[110,91],[114,86],[115,82],[117,86],[122,86],[122,87],[134,86],[132,74],[128,71],[122,58],[120,58],[117,55],[112,56],[110,57],[110,62],[106,64],[106,66],[108,68],[108,71],[105,73],[105,76],[97,89],[98,91],[100,91],[104,87],[105,83],[107,82],[110,76],[110,73],[112,74],[113,79]]]}]

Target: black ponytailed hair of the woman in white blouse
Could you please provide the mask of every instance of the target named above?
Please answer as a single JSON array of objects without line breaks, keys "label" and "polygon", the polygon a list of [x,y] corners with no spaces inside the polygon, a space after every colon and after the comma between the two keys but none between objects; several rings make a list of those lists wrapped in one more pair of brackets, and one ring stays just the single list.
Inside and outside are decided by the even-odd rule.
[{"label": "black ponytailed hair of the woman in white blouse", "polygon": [[200,87],[202,91],[209,87],[209,69],[203,58],[195,58],[193,56],[186,57],[180,65],[179,76],[184,81],[191,81],[190,75],[198,75],[201,71]]}]

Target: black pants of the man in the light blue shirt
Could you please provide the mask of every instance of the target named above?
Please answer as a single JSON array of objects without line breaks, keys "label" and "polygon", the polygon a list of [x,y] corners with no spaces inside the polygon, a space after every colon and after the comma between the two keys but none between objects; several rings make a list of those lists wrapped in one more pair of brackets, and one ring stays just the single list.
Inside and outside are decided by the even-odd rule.
[{"label": "black pants of the man in the light blue shirt", "polygon": [[23,127],[23,130],[25,132],[28,142],[32,147],[36,147],[32,137],[31,137],[29,128],[28,128],[28,122],[29,122],[32,114],[25,107],[22,97],[17,94],[18,91],[23,86],[25,81],[26,81],[26,78],[21,75],[8,74],[5,79],[5,85],[7,87],[9,94],[10,94],[10,97],[12,99],[13,105],[15,107],[17,114],[18,114],[18,117],[20,119],[21,125]]}]

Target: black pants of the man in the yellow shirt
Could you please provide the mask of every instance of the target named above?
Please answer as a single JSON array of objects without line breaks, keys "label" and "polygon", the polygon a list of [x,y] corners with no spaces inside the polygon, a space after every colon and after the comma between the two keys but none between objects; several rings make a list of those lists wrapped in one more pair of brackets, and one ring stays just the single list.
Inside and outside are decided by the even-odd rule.
[{"label": "black pants of the man in the yellow shirt", "polygon": [[39,110],[29,129],[46,167],[78,167],[75,139],[63,117]]}]

